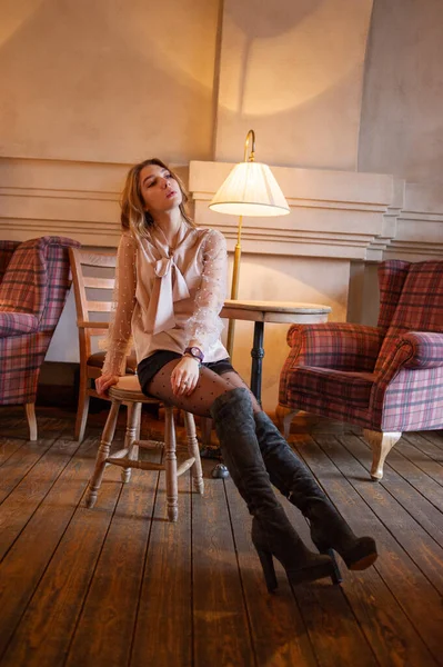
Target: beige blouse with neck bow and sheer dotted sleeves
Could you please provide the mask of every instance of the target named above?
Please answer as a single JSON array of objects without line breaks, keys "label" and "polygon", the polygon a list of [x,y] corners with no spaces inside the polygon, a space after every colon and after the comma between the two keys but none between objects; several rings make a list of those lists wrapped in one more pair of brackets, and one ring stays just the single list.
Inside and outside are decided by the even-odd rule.
[{"label": "beige blouse with neck bow and sheer dotted sleeves", "polygon": [[204,361],[228,357],[219,317],[225,290],[226,243],[219,231],[182,222],[175,248],[160,228],[144,239],[124,232],[102,372],[123,372],[132,345],[138,362],[157,350],[182,354],[191,340]]}]

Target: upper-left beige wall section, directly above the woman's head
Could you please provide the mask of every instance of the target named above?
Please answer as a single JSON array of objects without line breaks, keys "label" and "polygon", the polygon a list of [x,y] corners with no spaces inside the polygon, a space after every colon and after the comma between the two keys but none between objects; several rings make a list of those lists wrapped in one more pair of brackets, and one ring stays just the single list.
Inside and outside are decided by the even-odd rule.
[{"label": "upper-left beige wall section, directly above the woman's head", "polygon": [[1,155],[211,158],[218,13],[219,0],[1,0]]}]

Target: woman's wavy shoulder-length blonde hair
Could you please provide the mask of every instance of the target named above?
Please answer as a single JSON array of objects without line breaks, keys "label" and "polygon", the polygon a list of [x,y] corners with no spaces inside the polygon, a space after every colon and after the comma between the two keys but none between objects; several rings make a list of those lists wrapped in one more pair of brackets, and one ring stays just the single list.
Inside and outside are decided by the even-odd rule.
[{"label": "woman's wavy shoulder-length blonde hair", "polygon": [[179,207],[180,212],[182,218],[190,227],[195,227],[194,221],[188,212],[187,203],[189,201],[189,196],[181,179],[169,167],[167,167],[164,162],[158,158],[151,158],[149,160],[144,160],[143,162],[139,162],[139,165],[134,165],[128,172],[127,182],[124,183],[120,201],[120,220],[122,228],[129,229],[137,236],[147,237],[149,228],[154,223],[151,213],[144,209],[144,201],[140,189],[140,172],[149,165],[157,165],[158,167],[167,169],[174,181],[178,182],[182,195],[182,201]]}]

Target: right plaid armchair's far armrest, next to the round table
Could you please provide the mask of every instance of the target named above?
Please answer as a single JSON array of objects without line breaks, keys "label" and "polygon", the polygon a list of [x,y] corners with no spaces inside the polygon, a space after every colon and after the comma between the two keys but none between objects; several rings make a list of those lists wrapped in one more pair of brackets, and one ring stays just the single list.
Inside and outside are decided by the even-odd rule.
[{"label": "right plaid armchair's far armrest, next to the round table", "polygon": [[292,325],[286,341],[291,366],[372,372],[384,330],[349,322]]}]

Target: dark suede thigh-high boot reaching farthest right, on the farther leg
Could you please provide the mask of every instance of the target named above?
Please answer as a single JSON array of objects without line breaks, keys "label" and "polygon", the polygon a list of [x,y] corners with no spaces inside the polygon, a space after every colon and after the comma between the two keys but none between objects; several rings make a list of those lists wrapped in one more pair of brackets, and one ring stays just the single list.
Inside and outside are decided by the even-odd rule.
[{"label": "dark suede thigh-high boot reaching farthest right, on the farther leg", "polygon": [[377,557],[375,540],[354,535],[265,412],[255,414],[254,420],[271,482],[306,517],[319,551],[332,556],[331,549],[334,549],[352,570],[370,567]]}]

